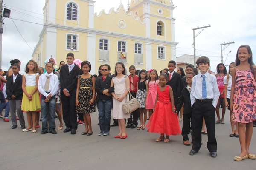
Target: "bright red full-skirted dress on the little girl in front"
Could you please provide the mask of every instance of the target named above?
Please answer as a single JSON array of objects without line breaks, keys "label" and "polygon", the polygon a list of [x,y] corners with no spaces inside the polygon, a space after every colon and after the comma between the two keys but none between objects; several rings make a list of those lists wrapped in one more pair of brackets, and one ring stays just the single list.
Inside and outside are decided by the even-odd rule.
[{"label": "bright red full-skirted dress on the little girl in front", "polygon": [[146,125],[146,128],[149,129],[151,133],[166,135],[181,134],[178,116],[172,112],[169,87],[170,86],[167,85],[164,91],[160,91],[160,87],[157,87],[157,105]]}]

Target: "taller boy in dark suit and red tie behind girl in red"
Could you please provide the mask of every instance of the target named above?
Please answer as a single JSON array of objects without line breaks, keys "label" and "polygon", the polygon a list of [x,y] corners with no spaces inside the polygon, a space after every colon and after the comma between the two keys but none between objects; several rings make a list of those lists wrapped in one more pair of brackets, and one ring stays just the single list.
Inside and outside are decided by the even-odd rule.
[{"label": "taller boy in dark suit and red tie behind girl in red", "polygon": [[176,62],[171,60],[168,63],[169,68],[169,81],[166,83],[166,85],[171,86],[172,92],[173,92],[173,98],[174,98],[174,105],[175,108],[177,108],[177,104],[179,102],[180,98],[180,74],[176,73],[174,70],[176,68]]}]

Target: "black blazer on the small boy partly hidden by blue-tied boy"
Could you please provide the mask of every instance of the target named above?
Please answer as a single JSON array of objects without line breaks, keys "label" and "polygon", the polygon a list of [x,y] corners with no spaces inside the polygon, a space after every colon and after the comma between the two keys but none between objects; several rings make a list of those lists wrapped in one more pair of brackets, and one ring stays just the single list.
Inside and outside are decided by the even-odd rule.
[{"label": "black blazer on the small boy partly hidden by blue-tied boy", "polygon": [[182,92],[181,92],[181,96],[180,96],[180,100],[179,103],[177,105],[176,111],[179,112],[182,105],[184,103],[184,111],[183,114],[189,114],[192,113],[191,110],[191,100],[190,100],[190,93],[187,89],[187,85],[186,87],[183,88]]}]

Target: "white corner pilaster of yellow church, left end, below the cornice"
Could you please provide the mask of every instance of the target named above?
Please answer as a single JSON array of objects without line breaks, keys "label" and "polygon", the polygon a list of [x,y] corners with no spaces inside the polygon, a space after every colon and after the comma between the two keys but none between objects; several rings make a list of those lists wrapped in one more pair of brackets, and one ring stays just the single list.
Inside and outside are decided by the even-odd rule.
[{"label": "white corner pilaster of yellow church, left end, below the cornice", "polygon": [[[46,59],[51,57],[56,59],[56,42],[57,42],[57,29],[47,28],[46,31]],[[44,62],[44,61],[43,61]]]}]

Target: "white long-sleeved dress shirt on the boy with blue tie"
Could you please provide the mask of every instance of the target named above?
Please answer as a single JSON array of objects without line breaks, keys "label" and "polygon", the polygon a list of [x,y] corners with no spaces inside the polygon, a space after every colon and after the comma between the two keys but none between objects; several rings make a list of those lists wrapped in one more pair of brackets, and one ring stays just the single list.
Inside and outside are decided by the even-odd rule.
[{"label": "white long-sleeved dress shirt on the boy with blue tie", "polygon": [[[209,74],[208,72],[206,72],[204,76],[206,81],[206,92],[207,92],[206,99],[213,99],[212,105],[216,108],[218,98],[220,96],[220,91],[217,85],[217,79],[214,75]],[[191,106],[195,103],[195,99],[199,99],[199,100],[204,99],[202,97],[202,84],[203,84],[203,77],[202,77],[202,73],[200,72],[198,75],[194,76],[192,79],[191,92],[190,92]]]}]

